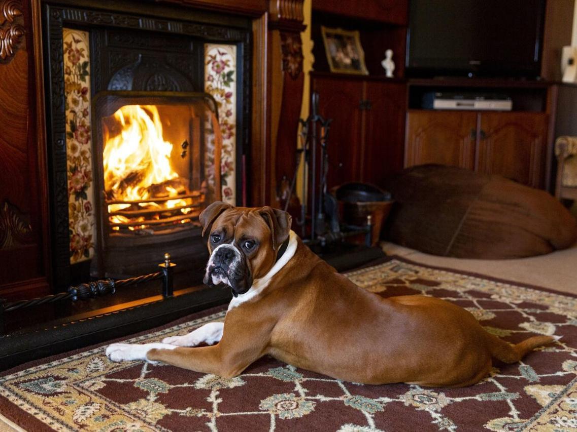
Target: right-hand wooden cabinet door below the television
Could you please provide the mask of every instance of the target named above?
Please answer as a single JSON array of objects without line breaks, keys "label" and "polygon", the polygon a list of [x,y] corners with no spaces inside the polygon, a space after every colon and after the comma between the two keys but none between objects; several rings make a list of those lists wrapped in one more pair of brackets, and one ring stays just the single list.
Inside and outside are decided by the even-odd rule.
[{"label": "right-hand wooden cabinet door below the television", "polygon": [[545,113],[482,113],[478,170],[542,187],[546,131]]}]

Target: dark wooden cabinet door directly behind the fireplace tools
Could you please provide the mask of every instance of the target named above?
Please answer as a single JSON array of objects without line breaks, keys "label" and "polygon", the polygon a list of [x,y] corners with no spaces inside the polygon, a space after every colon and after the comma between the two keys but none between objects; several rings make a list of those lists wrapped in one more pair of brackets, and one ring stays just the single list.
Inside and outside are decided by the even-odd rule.
[{"label": "dark wooden cabinet door directly behind the fireplace tools", "polygon": [[[327,187],[331,188],[346,181],[358,180],[361,160],[359,104],[362,96],[362,82],[314,78],[313,89],[319,93],[319,114],[325,119],[332,119],[327,139],[329,161]],[[320,134],[320,130],[318,132]],[[317,149],[317,161],[319,161],[319,155],[320,149]],[[317,165],[317,170],[319,166]]]}]

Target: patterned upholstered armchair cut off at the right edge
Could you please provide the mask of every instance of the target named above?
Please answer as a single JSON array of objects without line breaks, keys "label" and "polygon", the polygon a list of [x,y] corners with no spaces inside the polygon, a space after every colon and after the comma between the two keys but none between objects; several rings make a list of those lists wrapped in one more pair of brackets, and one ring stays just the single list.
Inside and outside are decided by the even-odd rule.
[{"label": "patterned upholstered armchair cut off at the right edge", "polygon": [[577,137],[559,137],[555,141],[557,181],[555,196],[577,199]]}]

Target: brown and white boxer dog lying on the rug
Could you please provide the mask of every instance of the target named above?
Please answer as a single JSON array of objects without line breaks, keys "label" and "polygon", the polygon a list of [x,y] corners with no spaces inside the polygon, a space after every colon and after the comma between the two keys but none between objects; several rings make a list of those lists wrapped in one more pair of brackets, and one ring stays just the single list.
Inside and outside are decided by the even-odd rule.
[{"label": "brown and white boxer dog lying on the rug", "polygon": [[[492,358],[514,363],[557,339],[511,345],[447,301],[370,293],[310,251],[281,210],[215,202],[200,222],[211,253],[204,283],[226,283],[234,295],[224,323],[162,343],[111,344],[112,361],[234,377],[268,354],[344,381],[466,386],[488,376]],[[218,343],[194,347],[201,342]]]}]

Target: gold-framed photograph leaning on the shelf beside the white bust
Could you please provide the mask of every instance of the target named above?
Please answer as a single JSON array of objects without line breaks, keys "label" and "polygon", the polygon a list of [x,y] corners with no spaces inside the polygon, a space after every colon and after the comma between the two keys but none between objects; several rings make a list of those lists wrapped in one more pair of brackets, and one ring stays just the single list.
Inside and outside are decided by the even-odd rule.
[{"label": "gold-framed photograph leaning on the shelf beside the white bust", "polygon": [[357,30],[343,30],[321,26],[325,52],[331,72],[368,75],[365,52]]}]

